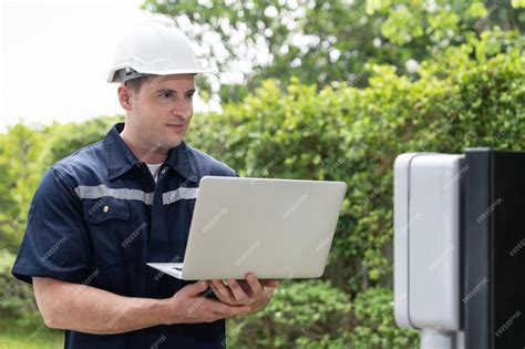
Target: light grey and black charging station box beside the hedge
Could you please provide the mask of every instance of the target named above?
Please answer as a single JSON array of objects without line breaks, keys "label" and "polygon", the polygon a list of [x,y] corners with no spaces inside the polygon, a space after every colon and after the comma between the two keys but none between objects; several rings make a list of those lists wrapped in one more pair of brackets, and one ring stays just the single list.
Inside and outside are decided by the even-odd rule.
[{"label": "light grey and black charging station box beside the hedge", "polygon": [[394,317],[422,349],[525,348],[525,153],[394,164]]}]

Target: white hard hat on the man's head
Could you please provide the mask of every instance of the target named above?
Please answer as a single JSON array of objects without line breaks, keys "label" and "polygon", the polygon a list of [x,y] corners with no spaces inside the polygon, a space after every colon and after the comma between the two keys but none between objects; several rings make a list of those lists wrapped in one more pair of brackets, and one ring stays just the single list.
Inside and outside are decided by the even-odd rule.
[{"label": "white hard hat on the man's head", "polygon": [[196,74],[203,70],[189,39],[171,19],[147,20],[133,28],[116,48],[107,82],[146,74]]}]

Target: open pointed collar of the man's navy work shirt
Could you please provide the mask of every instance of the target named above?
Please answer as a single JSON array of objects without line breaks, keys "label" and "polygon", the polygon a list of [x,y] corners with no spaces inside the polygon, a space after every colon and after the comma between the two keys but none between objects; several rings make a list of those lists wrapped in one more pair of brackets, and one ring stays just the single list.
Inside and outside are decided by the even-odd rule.
[{"label": "open pointed collar of the man's navy work shirt", "polygon": [[[107,132],[103,140],[106,151],[107,175],[110,181],[137,166],[141,161],[132,153],[120,133],[124,130],[124,123],[117,123]],[[188,147],[183,141],[179,145],[169,150],[165,164],[173,167],[188,181],[196,182],[195,174],[189,163]]]}]

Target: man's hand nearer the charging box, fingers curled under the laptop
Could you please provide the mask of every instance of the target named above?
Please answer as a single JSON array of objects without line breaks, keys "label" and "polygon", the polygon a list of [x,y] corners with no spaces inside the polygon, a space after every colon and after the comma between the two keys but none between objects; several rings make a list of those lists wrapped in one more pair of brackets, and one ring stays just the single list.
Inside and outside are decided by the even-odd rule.
[{"label": "man's hand nearer the charging box, fingers curled under the laptop", "polygon": [[229,279],[227,285],[222,280],[213,280],[209,285],[220,301],[231,306],[249,306],[251,311],[266,308],[278,286],[279,280],[259,280],[251,273],[248,273],[246,280]]}]

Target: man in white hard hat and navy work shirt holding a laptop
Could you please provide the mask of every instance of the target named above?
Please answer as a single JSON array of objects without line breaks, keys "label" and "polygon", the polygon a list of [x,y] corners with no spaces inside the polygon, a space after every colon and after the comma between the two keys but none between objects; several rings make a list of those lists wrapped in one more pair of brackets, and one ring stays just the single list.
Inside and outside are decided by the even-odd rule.
[{"label": "man in white hard hat and navy work shirt holding a laptop", "polygon": [[146,266],[182,261],[200,178],[237,175],[184,142],[199,72],[173,22],[132,30],[109,75],[125,124],[54,164],[34,194],[12,274],[33,285],[66,348],[224,347],[224,319],[262,309],[278,286],[253,274],[187,283]]}]

